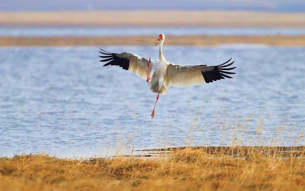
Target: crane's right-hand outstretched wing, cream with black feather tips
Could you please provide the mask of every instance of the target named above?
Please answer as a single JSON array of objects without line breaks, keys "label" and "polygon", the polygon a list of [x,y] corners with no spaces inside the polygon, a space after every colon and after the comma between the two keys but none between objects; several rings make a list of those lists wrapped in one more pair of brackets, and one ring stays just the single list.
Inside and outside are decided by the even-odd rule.
[{"label": "crane's right-hand outstretched wing, cream with black feather tips", "polygon": [[[173,86],[176,88],[183,88],[189,86],[200,85],[203,83],[210,83],[216,80],[225,78],[232,78],[226,74],[235,74],[234,72],[228,72],[227,70],[233,70],[233,68],[227,68],[234,63],[227,64],[230,60],[217,66],[208,65],[187,65],[187,64],[169,64],[165,75],[166,87]],[[226,65],[225,65],[226,64]]]}]

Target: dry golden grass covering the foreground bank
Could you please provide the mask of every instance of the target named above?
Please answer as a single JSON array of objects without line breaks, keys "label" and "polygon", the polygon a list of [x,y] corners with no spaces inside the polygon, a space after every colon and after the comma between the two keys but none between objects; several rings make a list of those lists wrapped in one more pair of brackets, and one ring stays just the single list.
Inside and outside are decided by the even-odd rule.
[{"label": "dry golden grass covering the foreground bank", "polygon": [[304,146],[187,147],[156,158],[0,159],[0,190],[304,190]]}]

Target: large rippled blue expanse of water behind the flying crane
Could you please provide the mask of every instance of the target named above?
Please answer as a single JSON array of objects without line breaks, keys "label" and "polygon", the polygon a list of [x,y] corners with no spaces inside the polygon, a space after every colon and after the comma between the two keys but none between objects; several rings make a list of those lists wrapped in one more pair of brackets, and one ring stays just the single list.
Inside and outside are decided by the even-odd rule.
[{"label": "large rippled blue expanse of water behind the flying crane", "polygon": [[[153,46],[103,47],[157,57]],[[220,64],[234,79],[156,94],[98,47],[0,48],[0,154],[62,157],[191,145],[293,145],[305,124],[305,47],[164,46],[173,63]],[[277,142],[278,140],[278,142]],[[303,137],[297,144],[303,142]]]}]

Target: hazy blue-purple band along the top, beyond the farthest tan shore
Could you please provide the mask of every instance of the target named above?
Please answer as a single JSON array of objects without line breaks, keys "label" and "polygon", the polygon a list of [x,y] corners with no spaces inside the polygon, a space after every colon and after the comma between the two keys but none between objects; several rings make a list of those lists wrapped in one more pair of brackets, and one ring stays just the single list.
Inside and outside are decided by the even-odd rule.
[{"label": "hazy blue-purple band along the top, beyond the farthest tan shore", "polygon": [[4,11],[63,11],[63,10],[240,10],[240,11],[270,11],[270,12],[303,12],[305,2],[301,0],[64,0],[39,1],[18,0],[2,1],[1,10]]}]

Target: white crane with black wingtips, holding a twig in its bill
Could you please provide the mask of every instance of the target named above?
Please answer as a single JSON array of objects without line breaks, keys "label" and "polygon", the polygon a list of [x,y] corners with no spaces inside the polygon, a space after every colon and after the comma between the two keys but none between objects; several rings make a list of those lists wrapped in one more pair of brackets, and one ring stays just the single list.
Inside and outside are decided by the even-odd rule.
[{"label": "white crane with black wingtips, holding a twig in its bill", "polygon": [[229,68],[234,61],[230,62],[232,58],[226,62],[209,66],[207,64],[174,64],[167,61],[163,55],[162,46],[165,41],[165,35],[161,33],[154,42],[157,46],[159,44],[159,57],[156,60],[147,59],[138,56],[135,53],[110,53],[100,49],[99,53],[102,56],[101,62],[107,62],[103,66],[119,66],[124,70],[146,79],[147,84],[152,92],[157,93],[156,102],[153,107],[153,112],[150,115],[152,119],[155,117],[155,109],[159,99],[159,95],[166,95],[166,88],[173,86],[175,88],[184,88],[189,86],[201,85],[204,83],[212,83],[213,81],[232,78],[231,74],[235,72],[228,72],[236,67]]}]

